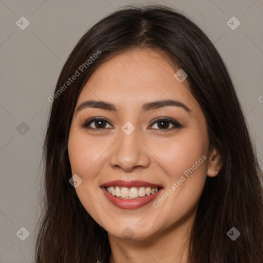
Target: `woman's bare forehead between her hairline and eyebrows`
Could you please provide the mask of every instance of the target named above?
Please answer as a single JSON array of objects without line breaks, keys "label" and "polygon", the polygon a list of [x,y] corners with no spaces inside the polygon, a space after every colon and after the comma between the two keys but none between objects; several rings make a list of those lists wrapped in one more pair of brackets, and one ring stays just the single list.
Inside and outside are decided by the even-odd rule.
[{"label": "woman's bare forehead between her hairline and eyebrows", "polygon": [[175,99],[190,108],[198,107],[186,81],[180,83],[174,77],[175,72],[161,52],[152,49],[125,51],[93,72],[76,107],[88,99],[108,100],[123,106]]}]

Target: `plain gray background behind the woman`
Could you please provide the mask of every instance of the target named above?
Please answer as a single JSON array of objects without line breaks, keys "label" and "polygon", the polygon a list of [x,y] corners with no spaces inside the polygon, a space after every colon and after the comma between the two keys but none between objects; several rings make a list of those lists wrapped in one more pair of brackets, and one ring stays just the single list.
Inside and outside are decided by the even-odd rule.
[{"label": "plain gray background behind the woman", "polygon": [[[34,261],[48,97],[67,56],[87,28],[133,3],[149,1],[0,0],[0,263]],[[184,11],[215,44],[229,68],[262,167],[263,1],[155,3]],[[30,22],[25,30],[16,25],[22,16]],[[227,24],[232,16],[241,23],[235,30]],[[24,241],[18,238],[26,237],[22,227],[30,232]]]}]

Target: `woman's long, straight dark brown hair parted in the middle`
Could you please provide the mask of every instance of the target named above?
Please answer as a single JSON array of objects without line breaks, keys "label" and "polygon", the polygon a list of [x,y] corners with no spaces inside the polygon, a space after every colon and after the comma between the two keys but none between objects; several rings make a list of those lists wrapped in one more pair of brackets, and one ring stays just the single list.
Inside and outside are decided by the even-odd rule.
[{"label": "woman's long, straight dark brown hair parted in the middle", "polygon": [[[92,72],[133,48],[161,50],[176,68],[184,69],[206,118],[210,145],[221,155],[221,171],[206,178],[199,200],[189,263],[262,263],[263,175],[229,72],[201,29],[178,10],[162,5],[125,6],[107,15],[81,37],[61,71],[44,142],[45,195],[36,263],[109,261],[107,232],[87,213],[69,183],[67,143],[74,107]],[[67,83],[76,70],[78,77]],[[232,227],[240,232],[234,241],[227,235]]]}]

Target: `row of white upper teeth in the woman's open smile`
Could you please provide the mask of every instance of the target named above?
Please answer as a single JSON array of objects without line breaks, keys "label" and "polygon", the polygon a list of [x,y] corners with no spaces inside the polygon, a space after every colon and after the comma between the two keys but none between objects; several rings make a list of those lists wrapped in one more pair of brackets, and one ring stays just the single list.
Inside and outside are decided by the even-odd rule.
[{"label": "row of white upper teeth in the woman's open smile", "polygon": [[158,187],[120,187],[120,186],[109,186],[106,187],[106,191],[114,196],[120,197],[121,199],[137,199],[144,197],[145,195],[153,195],[158,191]]}]

